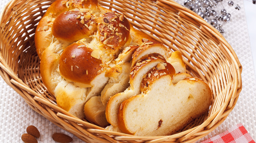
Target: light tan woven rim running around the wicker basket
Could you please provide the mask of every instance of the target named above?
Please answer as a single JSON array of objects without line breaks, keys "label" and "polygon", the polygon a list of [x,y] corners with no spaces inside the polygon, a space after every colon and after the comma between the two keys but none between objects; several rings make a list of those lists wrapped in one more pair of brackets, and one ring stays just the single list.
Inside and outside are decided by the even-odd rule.
[{"label": "light tan woven rim running around the wicker basket", "polygon": [[[90,140],[88,140],[87,137],[85,137],[85,136],[83,136],[83,134],[81,134],[81,131],[86,131],[86,132],[97,134],[98,136],[94,138],[94,140],[96,140],[97,142],[104,142],[107,140],[109,140],[110,142],[117,142],[118,140],[119,141],[120,140],[126,140],[126,141],[128,141],[128,140],[131,140],[131,141],[143,140],[143,141],[149,141],[149,142],[160,142],[160,141],[194,142],[194,141],[202,138],[203,136],[209,134],[215,128],[217,128],[227,118],[228,114],[234,108],[234,106],[238,100],[239,93],[242,90],[242,79],[241,79],[242,66],[241,66],[234,50],[230,46],[230,44],[225,40],[225,38],[214,27],[212,27],[207,22],[205,22],[200,16],[195,15],[195,13],[192,12],[191,10],[184,8],[181,5],[179,5],[178,3],[171,1],[171,0],[157,0],[157,1],[153,2],[154,6],[160,6],[162,8],[165,8],[164,10],[170,10],[170,11],[174,10],[174,8],[179,9],[180,11],[177,13],[177,15],[180,18],[184,18],[186,20],[191,20],[190,22],[194,25],[199,24],[200,30],[205,32],[206,35],[208,34],[208,35],[212,36],[212,37],[210,37],[210,36],[208,37],[209,39],[211,39],[211,41],[215,41],[215,40],[220,41],[220,44],[218,46],[221,48],[221,51],[224,52],[223,54],[225,54],[225,56],[229,55],[226,58],[228,60],[232,61],[232,63],[233,63],[233,65],[231,65],[231,67],[230,67],[230,70],[233,72],[232,74],[234,74],[234,78],[237,78],[237,79],[234,79],[232,86],[234,89],[237,89],[237,90],[233,92],[230,100],[225,103],[226,108],[222,108],[220,110],[221,114],[218,112],[215,112],[214,114],[209,116],[206,119],[206,121],[211,120],[211,123],[208,123],[207,126],[205,126],[206,123],[204,121],[203,124],[201,124],[197,127],[188,129],[186,131],[177,133],[175,135],[168,135],[168,136],[137,137],[137,136],[127,135],[127,134],[122,134],[122,133],[117,133],[117,132],[110,132],[110,131],[105,130],[104,128],[101,128],[99,126],[90,124],[88,122],[85,122],[83,120],[76,118],[75,116],[71,115],[70,113],[66,112],[65,110],[57,107],[56,104],[54,104],[53,102],[46,100],[45,96],[32,90],[27,84],[25,84],[23,82],[22,79],[20,79],[18,77],[17,73],[10,67],[10,63],[8,64],[6,59],[3,57],[3,54],[6,54],[6,53],[3,53],[3,52],[6,52],[6,51],[4,51],[4,49],[6,47],[8,47],[8,45],[4,45],[4,42],[3,42],[4,41],[3,30],[6,28],[5,27],[6,23],[3,23],[3,22],[10,20],[11,16],[13,16],[15,14],[15,13],[14,14],[11,13],[12,10],[15,11],[24,2],[29,3],[31,1],[33,1],[33,0],[21,0],[21,1],[11,0],[3,8],[3,11],[0,15],[0,26],[1,26],[0,27],[1,28],[1,31],[0,31],[0,36],[1,36],[1,40],[0,40],[0,48],[1,48],[0,75],[2,76],[2,78],[5,80],[5,82],[9,86],[11,86],[19,95],[21,95],[23,97],[23,99],[26,101],[26,103],[28,103],[28,105],[34,111],[38,112],[39,114],[43,115],[44,117],[51,115],[51,117],[54,117],[56,119],[63,118],[65,120],[69,121],[70,123],[64,122],[63,120],[56,122],[55,120],[49,119],[46,117],[47,119],[49,119],[54,124],[56,124],[57,126],[59,126],[60,128],[62,128],[64,130],[67,130],[64,127],[65,125],[70,127],[71,130],[74,131],[73,134],[76,132],[79,133],[79,134],[74,134],[74,135],[76,135],[78,138],[82,139],[83,141],[90,142]],[[43,1],[47,1],[47,0],[43,0]],[[145,0],[145,1],[147,1],[147,0]],[[109,3],[111,4],[114,2],[109,1]],[[99,4],[105,5],[106,3],[99,2]],[[111,5],[111,7],[114,7],[114,6]],[[9,13],[11,13],[12,15],[11,14],[9,15]],[[136,25],[135,22],[132,22],[132,24],[135,24],[135,26],[138,26],[137,28],[140,28],[139,25]],[[50,111],[50,109],[46,110],[49,113],[42,112],[41,109],[37,109],[38,107],[41,107],[41,105],[39,103],[44,104],[45,107],[47,107],[47,108],[54,108],[58,112],[55,113],[53,111]],[[78,124],[83,124],[88,129],[84,130]],[[201,126],[204,127],[203,131],[201,131],[202,130]],[[67,131],[70,132],[70,130],[67,130]],[[112,135],[112,136],[109,136],[109,135]]]}]

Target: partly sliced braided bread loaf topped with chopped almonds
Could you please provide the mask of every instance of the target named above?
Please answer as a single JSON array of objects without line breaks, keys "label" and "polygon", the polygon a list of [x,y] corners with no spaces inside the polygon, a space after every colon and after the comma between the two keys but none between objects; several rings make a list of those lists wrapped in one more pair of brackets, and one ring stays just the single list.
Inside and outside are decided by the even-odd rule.
[{"label": "partly sliced braided bread loaf topped with chopped almonds", "polygon": [[[199,109],[193,107],[189,112],[181,113],[184,119],[174,129],[170,127],[173,124],[166,123],[164,118],[161,127],[157,128],[164,132],[158,135],[179,130],[209,108],[210,88],[200,79],[192,82],[191,76],[185,73],[181,53],[170,52],[163,44],[134,29],[124,15],[98,6],[97,0],[53,2],[37,26],[35,46],[41,59],[42,81],[55,96],[57,105],[97,125],[111,124],[113,128],[110,126],[108,129],[137,135],[155,134],[155,129],[144,128],[143,120],[138,122],[142,123],[139,129],[131,129],[133,119],[127,116],[135,114],[127,108],[128,103],[137,96],[161,96],[159,90],[176,93],[174,87],[182,85],[179,84],[181,81],[185,82],[187,92],[185,95],[178,92],[178,96],[191,99],[189,101]],[[163,86],[165,89],[155,87],[161,82],[166,84]],[[198,95],[191,98],[194,90],[198,90],[195,93]],[[172,100],[168,97],[172,96],[163,96],[162,99]],[[179,108],[187,106],[186,102],[183,101]],[[156,104],[162,103],[154,102]],[[140,108],[144,105],[135,102],[132,106]],[[195,110],[198,114],[194,113]],[[155,114],[163,116],[162,112],[152,115]],[[169,112],[166,114],[171,116]],[[145,114],[138,111],[136,116],[140,118]]]}]

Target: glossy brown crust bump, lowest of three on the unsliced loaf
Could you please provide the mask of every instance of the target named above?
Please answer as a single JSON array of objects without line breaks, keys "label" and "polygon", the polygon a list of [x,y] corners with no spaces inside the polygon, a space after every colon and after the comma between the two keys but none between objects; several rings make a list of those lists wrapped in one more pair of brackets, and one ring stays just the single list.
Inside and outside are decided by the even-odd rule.
[{"label": "glossy brown crust bump, lowest of three on the unsliced loaf", "polygon": [[101,60],[91,56],[92,51],[79,43],[66,47],[59,59],[60,74],[67,80],[91,87],[91,81],[102,68]]}]

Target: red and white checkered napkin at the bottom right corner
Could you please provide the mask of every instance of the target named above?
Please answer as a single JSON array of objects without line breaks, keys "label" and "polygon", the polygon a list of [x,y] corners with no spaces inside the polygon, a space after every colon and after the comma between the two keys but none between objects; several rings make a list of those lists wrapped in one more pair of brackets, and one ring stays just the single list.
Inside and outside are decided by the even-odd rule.
[{"label": "red and white checkered napkin at the bottom right corner", "polygon": [[237,124],[229,130],[216,135],[201,143],[255,143],[242,124]]}]

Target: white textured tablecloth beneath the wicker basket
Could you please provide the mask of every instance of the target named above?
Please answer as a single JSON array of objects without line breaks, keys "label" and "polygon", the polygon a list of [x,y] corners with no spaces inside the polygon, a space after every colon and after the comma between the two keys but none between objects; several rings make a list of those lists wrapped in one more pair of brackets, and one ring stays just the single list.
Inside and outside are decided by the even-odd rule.
[{"label": "white textured tablecloth beneath the wicker basket", "polygon": [[[0,9],[9,2],[9,0],[0,0]],[[228,7],[228,0],[223,0],[223,5],[227,12],[232,13],[231,22],[223,26],[225,33],[223,36],[230,43],[236,52],[242,66],[243,89],[233,111],[227,119],[209,135],[203,137],[198,142],[207,138],[223,133],[232,126],[242,123],[252,138],[256,139],[256,81],[254,67],[252,63],[252,54],[246,24],[244,3],[241,0],[233,0],[239,4],[241,10],[236,10],[234,6]],[[21,135],[26,133],[26,127],[34,125],[39,129],[41,136],[39,143],[54,142],[51,138],[53,133],[64,133],[70,135],[76,143],[82,142],[80,139],[57,127],[40,114],[33,111],[25,101],[11,87],[9,87],[0,77],[0,142],[17,143],[21,142]]]}]

